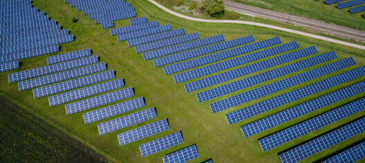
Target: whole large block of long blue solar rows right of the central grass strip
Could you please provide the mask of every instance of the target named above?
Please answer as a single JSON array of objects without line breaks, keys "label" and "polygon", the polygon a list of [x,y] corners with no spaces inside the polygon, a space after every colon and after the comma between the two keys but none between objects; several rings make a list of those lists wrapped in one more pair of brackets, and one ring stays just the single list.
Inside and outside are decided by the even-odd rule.
[{"label": "whole large block of long blue solar rows right of the central grass strip", "polygon": [[[229,109],[244,102],[256,100],[257,98],[261,98],[269,94],[274,94],[277,91],[282,91],[284,89],[287,89],[288,87],[293,87],[301,83],[306,83],[309,80],[319,78],[321,76],[326,76],[333,72],[344,71],[343,69],[355,65],[355,61],[353,60],[353,58],[345,58],[338,61],[335,52],[327,52],[324,54],[311,56],[318,52],[314,46],[306,47],[301,50],[296,50],[297,48],[299,48],[299,45],[296,41],[279,45],[281,43],[279,37],[259,41],[256,43],[253,43],[255,40],[252,36],[246,36],[239,39],[234,39],[232,41],[225,41],[222,35],[213,36],[206,39],[197,38],[196,40],[190,40],[189,42],[179,41],[178,38],[180,36],[171,36],[169,37],[169,39],[160,39],[160,36],[162,36],[164,31],[158,30],[158,28],[156,27],[151,27],[151,23],[154,22],[151,21],[140,24],[138,26],[131,25],[127,27],[116,28],[114,30],[111,30],[111,34],[118,35],[132,32],[136,34],[135,38],[149,38],[150,41],[146,41],[144,42],[144,44],[138,44],[137,46],[135,46],[135,50],[138,53],[144,52],[143,56],[145,60],[154,58],[153,63],[155,63],[156,67],[167,65],[163,67],[165,74],[174,74],[176,72],[181,72],[187,69],[198,67],[196,69],[187,70],[180,74],[175,74],[174,80],[176,83],[185,82],[194,78],[200,78],[209,74],[221,72],[225,69],[228,70],[220,74],[214,74],[213,76],[208,76],[200,78],[198,80],[194,80],[189,83],[185,83],[185,89],[187,92],[196,91],[198,89],[203,89],[205,87],[223,83],[234,78],[245,76],[247,74],[259,72],[263,69],[286,64],[282,67],[270,69],[270,71],[267,72],[262,72],[248,78],[236,80],[233,83],[228,83],[225,85],[221,85],[220,87],[202,91],[196,94],[199,102],[204,102],[206,100],[211,100],[219,96],[224,96],[226,94],[245,89],[252,85],[264,83],[268,80],[279,78],[281,76],[286,76],[287,74],[291,74],[293,72],[302,71],[303,69],[316,67],[315,69],[310,69],[309,71],[302,72],[288,78],[284,78],[283,80],[279,80],[275,83],[263,85],[262,87],[258,87],[256,89],[237,94],[236,96],[213,102],[209,105],[213,113]],[[144,35],[137,35],[138,33]],[[188,35],[189,34],[182,36]],[[118,39],[121,41],[122,39],[120,38],[121,37],[118,37]],[[247,43],[250,44],[245,45]],[[201,57],[196,58],[198,56]],[[234,56],[238,57],[232,58]],[[263,58],[268,57],[270,58],[262,61]],[[301,61],[296,61],[297,59],[301,59]],[[333,61],[335,59],[337,59],[337,61]],[[217,61],[221,62],[216,63]],[[293,61],[296,62],[293,63]],[[332,61],[332,63],[328,64],[328,62],[330,61]],[[171,63],[175,64],[169,65]],[[209,63],[212,64],[207,65]],[[249,63],[249,65],[246,65],[247,63]],[[319,67],[319,64],[325,65]],[[245,66],[234,68],[239,65]],[[239,109],[238,111],[234,111],[232,113],[227,113],[227,121],[229,124],[233,124],[252,116],[256,116],[265,111],[269,111],[281,105],[286,105],[295,100],[301,100],[302,98],[306,98],[307,96],[316,94],[317,92],[324,91],[325,89],[329,89],[337,85],[342,85],[350,80],[354,80],[356,78],[364,76],[364,70],[365,67],[351,69],[348,72],[343,72],[336,76],[320,80],[317,83],[312,83],[305,87],[294,89],[294,91],[289,91],[286,94],[264,100],[263,102],[259,102],[255,105]],[[344,100],[345,98],[354,96],[355,94],[359,94],[364,91],[364,84],[364,81],[360,83],[355,83],[354,85],[350,85],[343,89],[333,91],[330,94],[326,94],[319,98],[304,102],[303,104],[297,105],[296,107],[292,107],[279,113],[275,113],[272,116],[268,116],[255,122],[251,122],[242,126],[241,131],[243,132],[243,135],[245,135],[245,137],[254,135],[261,131],[265,131],[266,129],[275,127],[281,123],[287,122],[288,120],[292,120],[311,111],[315,111],[316,109],[331,105],[339,100]],[[335,122],[342,118],[346,118],[347,116],[353,115],[354,113],[362,111],[362,108],[364,107],[359,105],[359,103],[350,103],[344,107],[340,107],[339,109],[334,109],[333,111],[328,111],[321,116],[312,118],[313,120],[308,120],[308,122],[302,122],[297,126],[290,127],[281,132],[274,133],[272,135],[269,135],[268,137],[262,138],[259,140],[260,145],[263,151],[267,151],[274,148],[275,146],[279,146],[280,144],[309,133],[310,131],[319,129],[320,127],[324,127],[331,122]],[[346,111],[346,113],[344,111]],[[330,116],[332,116],[332,118],[328,118]],[[362,126],[364,126],[364,124],[362,124]],[[362,132],[361,129],[357,131],[357,133],[360,132]],[[353,133],[353,135],[356,135],[356,133]],[[324,144],[324,146],[326,146],[326,144]],[[286,153],[279,155],[283,162],[297,162],[298,160],[302,160],[304,157],[308,157],[309,155],[307,153],[313,154],[323,149],[308,150],[304,145],[303,149],[292,150],[293,151],[286,151]],[[300,151],[304,150],[307,150],[307,153],[299,153]],[[351,149],[349,150],[351,151]],[[344,157],[347,156],[347,158],[344,159],[350,159],[353,161],[365,157],[364,153],[360,153],[362,155],[360,155],[359,157],[353,157],[351,155],[346,155],[346,152],[344,153],[345,154],[339,153],[339,155],[344,155]],[[338,159],[338,157],[339,156],[331,157],[329,160],[326,160],[326,162],[336,160],[336,158]]]}]

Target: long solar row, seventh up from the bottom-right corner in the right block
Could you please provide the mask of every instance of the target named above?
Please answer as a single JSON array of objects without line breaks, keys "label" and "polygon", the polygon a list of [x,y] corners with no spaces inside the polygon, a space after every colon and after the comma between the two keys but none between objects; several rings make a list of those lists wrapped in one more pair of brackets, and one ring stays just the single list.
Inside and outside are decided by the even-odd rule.
[{"label": "long solar row, seventh up from the bottom-right corner in the right block", "polygon": [[[319,61],[324,62],[329,60],[329,58],[324,58],[324,60],[318,60],[321,56],[308,58],[303,61],[299,61],[297,63],[292,63],[290,65],[286,65],[283,67],[279,67],[277,69],[271,69],[268,72],[263,72],[261,74],[257,74],[254,76],[250,76],[248,78],[243,78],[241,80],[234,81],[233,83],[228,83],[226,85],[221,85],[219,87],[215,87],[213,89],[208,89],[207,91],[202,91],[196,94],[198,98],[198,102],[203,102],[206,100],[210,100],[216,98],[218,96],[223,96],[225,94],[230,94],[234,91],[238,91],[240,89],[244,89],[246,87],[250,87],[252,85],[256,85],[259,83],[263,83],[264,81],[271,80],[273,78],[278,78],[279,76],[284,76],[286,74],[290,74],[292,72],[297,72],[301,69],[306,69],[312,65],[317,64]],[[333,57],[337,57],[333,55]],[[317,61],[316,61],[317,60]]]}]

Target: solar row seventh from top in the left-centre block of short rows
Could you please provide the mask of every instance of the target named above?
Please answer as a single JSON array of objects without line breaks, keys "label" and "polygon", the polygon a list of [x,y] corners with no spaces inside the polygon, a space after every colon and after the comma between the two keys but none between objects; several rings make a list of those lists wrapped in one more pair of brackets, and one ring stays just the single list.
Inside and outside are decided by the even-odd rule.
[{"label": "solar row seventh from top in the left-centre block of short rows", "polygon": [[85,124],[88,124],[120,113],[131,111],[133,109],[138,109],[140,107],[144,107],[144,100],[142,97],[84,113],[84,122]]}]

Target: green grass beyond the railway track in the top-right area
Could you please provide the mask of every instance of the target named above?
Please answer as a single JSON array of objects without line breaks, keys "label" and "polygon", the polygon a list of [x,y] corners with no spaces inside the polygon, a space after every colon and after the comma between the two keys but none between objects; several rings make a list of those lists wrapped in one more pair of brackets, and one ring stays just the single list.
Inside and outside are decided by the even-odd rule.
[{"label": "green grass beyond the railway track in the top-right area", "polygon": [[350,14],[348,8],[339,10],[336,4],[326,5],[324,0],[302,1],[302,0],[231,0],[245,5],[256,6],[277,12],[284,12],[297,16],[318,19],[328,23],[365,30],[365,19],[361,16],[363,12]]}]

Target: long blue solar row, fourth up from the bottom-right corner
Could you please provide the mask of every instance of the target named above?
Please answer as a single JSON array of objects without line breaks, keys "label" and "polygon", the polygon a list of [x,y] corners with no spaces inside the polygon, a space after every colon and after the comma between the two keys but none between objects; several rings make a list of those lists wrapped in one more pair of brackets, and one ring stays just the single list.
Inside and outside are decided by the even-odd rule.
[{"label": "long blue solar row, fourth up from the bottom-right corner", "polygon": [[[254,135],[284,122],[288,122],[289,120],[292,120],[299,116],[303,116],[304,114],[310,113],[311,111],[321,109],[322,107],[332,105],[337,101],[344,100],[345,98],[348,98],[355,94],[359,94],[360,92],[365,91],[364,85],[364,81],[356,83],[354,85],[344,87],[343,89],[333,91],[330,94],[326,94],[319,98],[309,100],[308,102],[301,103],[300,105],[291,107],[290,109],[280,111],[279,113],[274,113],[271,116],[244,125],[243,127],[241,127],[241,131],[243,132],[243,135],[245,135],[245,137]],[[263,150],[267,151],[268,147],[263,148]]]}]

